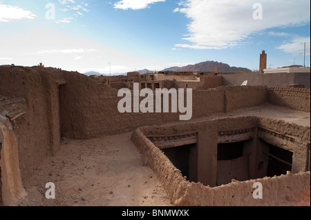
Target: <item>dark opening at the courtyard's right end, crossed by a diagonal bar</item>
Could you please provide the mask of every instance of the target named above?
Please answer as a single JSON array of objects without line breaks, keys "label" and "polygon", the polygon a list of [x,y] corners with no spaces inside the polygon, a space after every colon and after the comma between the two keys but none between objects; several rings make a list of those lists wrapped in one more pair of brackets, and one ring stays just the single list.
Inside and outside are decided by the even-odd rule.
[{"label": "dark opening at the courtyard's right end, crossed by a diagonal bar", "polygon": [[293,153],[269,144],[269,152],[263,154],[269,158],[267,166],[267,177],[280,176],[292,171],[292,155]]}]

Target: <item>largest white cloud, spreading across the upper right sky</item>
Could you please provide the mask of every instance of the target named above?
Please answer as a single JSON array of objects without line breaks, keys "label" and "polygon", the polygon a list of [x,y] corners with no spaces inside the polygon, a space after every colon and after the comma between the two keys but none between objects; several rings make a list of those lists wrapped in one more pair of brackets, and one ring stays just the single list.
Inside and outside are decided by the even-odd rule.
[{"label": "largest white cloud, spreading across the upper right sky", "polygon": [[255,20],[254,3],[258,0],[188,0],[181,1],[174,12],[191,19],[189,44],[179,47],[208,49],[236,46],[250,34],[268,28],[298,26],[310,22],[310,1],[262,0],[263,19]]}]

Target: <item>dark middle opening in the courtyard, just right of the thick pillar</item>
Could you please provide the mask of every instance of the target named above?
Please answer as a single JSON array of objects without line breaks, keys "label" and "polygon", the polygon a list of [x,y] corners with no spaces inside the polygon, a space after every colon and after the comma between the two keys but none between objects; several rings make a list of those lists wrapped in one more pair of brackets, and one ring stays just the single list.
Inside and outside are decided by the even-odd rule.
[{"label": "dark middle opening in the courtyard, just right of the thick pillar", "polygon": [[243,141],[236,143],[219,143],[217,149],[218,161],[229,161],[243,156]]}]

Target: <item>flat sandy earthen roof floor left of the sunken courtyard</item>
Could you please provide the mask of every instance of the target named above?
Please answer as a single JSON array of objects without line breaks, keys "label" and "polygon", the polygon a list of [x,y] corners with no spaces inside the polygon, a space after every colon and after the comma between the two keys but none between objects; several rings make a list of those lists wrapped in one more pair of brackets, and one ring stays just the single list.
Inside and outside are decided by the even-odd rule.
[{"label": "flat sandy earthen roof floor left of the sunken courtyard", "polygon": [[[23,182],[28,197],[19,206],[172,206],[131,133],[62,141],[61,150]],[[46,183],[55,199],[46,199]]]}]

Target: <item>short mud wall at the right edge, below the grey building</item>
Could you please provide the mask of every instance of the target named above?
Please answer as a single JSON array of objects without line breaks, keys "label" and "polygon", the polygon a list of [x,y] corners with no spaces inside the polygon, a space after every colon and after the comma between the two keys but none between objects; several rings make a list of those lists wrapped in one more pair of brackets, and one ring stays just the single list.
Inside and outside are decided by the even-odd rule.
[{"label": "short mud wall at the right edge, below the grey building", "polygon": [[268,101],[278,106],[310,112],[310,89],[269,88]]}]

